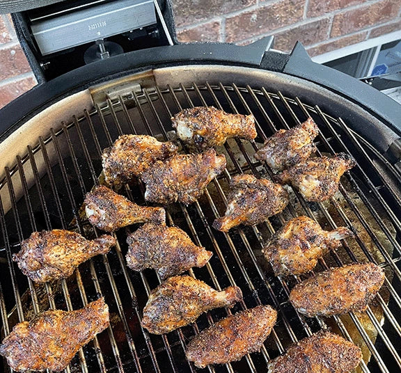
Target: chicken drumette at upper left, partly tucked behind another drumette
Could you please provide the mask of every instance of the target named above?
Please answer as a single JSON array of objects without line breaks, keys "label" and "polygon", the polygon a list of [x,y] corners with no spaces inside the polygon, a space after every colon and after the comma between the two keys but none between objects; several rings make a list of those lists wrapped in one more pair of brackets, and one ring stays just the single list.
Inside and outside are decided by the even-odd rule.
[{"label": "chicken drumette at upper left, partly tucked behind another drumette", "polygon": [[166,159],[177,150],[178,147],[173,143],[161,143],[152,136],[120,136],[102,154],[104,179],[118,189],[122,184],[140,177],[158,159]]}]

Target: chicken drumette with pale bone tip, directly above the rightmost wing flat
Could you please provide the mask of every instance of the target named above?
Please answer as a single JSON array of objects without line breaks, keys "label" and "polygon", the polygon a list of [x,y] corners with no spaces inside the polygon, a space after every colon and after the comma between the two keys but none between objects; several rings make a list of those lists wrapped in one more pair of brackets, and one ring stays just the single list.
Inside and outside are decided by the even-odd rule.
[{"label": "chicken drumette with pale bone tip, directly above the rightmost wing flat", "polygon": [[317,260],[340,246],[340,239],[353,235],[340,227],[331,232],[307,216],[291,219],[262,249],[276,276],[300,275],[312,271]]}]

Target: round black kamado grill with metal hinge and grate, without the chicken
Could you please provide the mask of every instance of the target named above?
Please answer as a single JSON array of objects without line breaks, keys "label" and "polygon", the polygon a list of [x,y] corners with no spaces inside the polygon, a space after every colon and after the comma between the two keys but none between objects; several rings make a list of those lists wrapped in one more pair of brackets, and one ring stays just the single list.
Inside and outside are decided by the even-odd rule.
[{"label": "round black kamado grill with metal hinge and grate, without the chicken", "polygon": [[[193,335],[231,312],[269,304],[278,311],[278,322],[262,351],[205,370],[265,372],[268,360],[321,328],[331,328],[363,349],[359,371],[400,370],[401,106],[366,84],[313,63],[299,44],[290,55],[265,51],[271,40],[248,47],[180,45],[169,1],[147,2],[154,23],[129,26],[136,36],[131,37],[130,47],[124,47],[129,50],[125,54],[101,40],[108,36],[118,44],[128,38],[127,30],[118,36],[102,31],[99,25],[107,24],[107,17],[91,23],[100,31],[88,35],[83,45],[53,51],[57,46],[49,47],[51,38],[46,36],[52,27],[45,21],[59,22],[54,23],[57,29],[71,21],[60,18],[64,15],[85,22],[89,18],[82,11],[94,9],[96,14],[113,17],[119,3],[127,6],[126,1],[92,1],[91,7],[82,6],[84,1],[67,5],[38,1],[41,5],[56,2],[40,10],[26,10],[34,1],[0,6],[4,12],[19,11],[13,15],[17,33],[42,83],[0,111],[2,338],[17,322],[38,312],[78,309],[102,294],[111,326],[79,351],[67,372],[195,372],[184,356]],[[114,13],[102,13],[102,6],[110,4],[116,6]],[[79,27],[77,19],[65,29]],[[39,34],[45,39],[40,40]],[[84,51],[89,48],[86,58],[100,61],[84,65]],[[117,55],[106,58],[107,48]],[[231,310],[207,312],[196,323],[167,335],[148,333],[141,328],[141,312],[159,278],[155,271],[139,273],[125,264],[125,239],[135,227],[119,230],[118,245],[111,253],[81,264],[67,280],[37,285],[22,275],[11,256],[31,232],[62,228],[88,238],[101,234],[88,223],[82,206],[86,192],[102,183],[104,148],[121,134],[171,138],[171,116],[201,105],[253,113],[258,137],[253,142],[230,139],[218,149],[228,160],[224,173],[196,203],[169,205],[167,223],[178,225],[196,244],[214,253],[209,264],[189,274],[216,289],[237,285],[244,301]],[[336,196],[327,203],[307,203],[292,191],[285,211],[263,224],[240,226],[227,234],[214,230],[212,222],[225,211],[230,178],[238,173],[271,178],[272,172],[253,154],[276,130],[298,125],[308,116],[320,129],[318,155],[345,152],[357,161],[342,177]],[[145,204],[143,192],[143,185],[135,184],[122,193]],[[285,221],[300,215],[317,220],[327,230],[343,225],[355,233],[338,251],[325,255],[315,272],[369,261],[384,269],[384,286],[366,312],[325,319],[307,318],[292,308],[290,289],[306,276],[275,277],[260,249]],[[6,362],[4,368],[10,370]]]}]

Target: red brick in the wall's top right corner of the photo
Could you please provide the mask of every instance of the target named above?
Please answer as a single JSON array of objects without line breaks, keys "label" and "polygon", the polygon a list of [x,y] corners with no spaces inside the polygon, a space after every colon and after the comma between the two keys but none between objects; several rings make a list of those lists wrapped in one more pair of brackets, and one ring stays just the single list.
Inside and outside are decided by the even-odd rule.
[{"label": "red brick in the wall's top right corner of the photo", "polygon": [[331,36],[340,36],[365,29],[397,17],[400,0],[384,0],[334,16]]}]

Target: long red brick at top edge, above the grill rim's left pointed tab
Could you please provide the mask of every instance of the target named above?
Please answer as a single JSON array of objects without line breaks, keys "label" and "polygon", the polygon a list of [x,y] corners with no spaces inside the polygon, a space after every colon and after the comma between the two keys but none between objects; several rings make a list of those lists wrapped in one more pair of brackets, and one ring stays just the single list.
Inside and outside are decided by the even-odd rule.
[{"label": "long red brick at top edge, above the grill rim's left pointed tab", "polygon": [[302,19],[305,0],[283,0],[226,19],[226,41],[268,33]]}]

